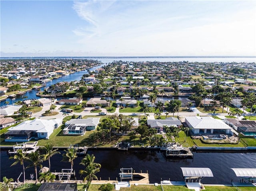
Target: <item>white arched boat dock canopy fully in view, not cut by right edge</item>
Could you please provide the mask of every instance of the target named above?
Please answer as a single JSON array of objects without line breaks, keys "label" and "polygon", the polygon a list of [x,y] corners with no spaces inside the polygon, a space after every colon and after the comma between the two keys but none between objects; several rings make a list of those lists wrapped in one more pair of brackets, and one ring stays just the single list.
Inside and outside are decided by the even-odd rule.
[{"label": "white arched boat dock canopy fully in view, not cut by right edge", "polygon": [[180,167],[184,177],[213,177],[209,168]]}]

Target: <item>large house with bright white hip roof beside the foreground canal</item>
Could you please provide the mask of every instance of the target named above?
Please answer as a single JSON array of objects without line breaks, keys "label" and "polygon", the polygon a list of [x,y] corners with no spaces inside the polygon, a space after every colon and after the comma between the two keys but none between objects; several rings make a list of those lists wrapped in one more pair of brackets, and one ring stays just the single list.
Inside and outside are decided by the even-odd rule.
[{"label": "large house with bright white hip roof beside the foreground canal", "polygon": [[210,116],[186,116],[185,123],[194,134],[233,134],[230,126]]}]

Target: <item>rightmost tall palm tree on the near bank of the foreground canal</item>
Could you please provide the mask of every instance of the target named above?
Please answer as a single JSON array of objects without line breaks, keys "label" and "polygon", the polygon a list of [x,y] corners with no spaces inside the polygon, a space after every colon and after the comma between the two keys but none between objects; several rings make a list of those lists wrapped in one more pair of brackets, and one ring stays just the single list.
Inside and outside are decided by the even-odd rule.
[{"label": "rightmost tall palm tree on the near bank of the foreground canal", "polygon": [[98,177],[95,175],[100,171],[101,165],[99,163],[95,163],[95,156],[92,154],[91,156],[89,154],[86,155],[85,158],[81,160],[79,163],[80,165],[86,166],[84,170],[80,170],[79,173],[81,175],[85,175],[84,182],[87,180],[91,182],[93,179],[98,180]]}]

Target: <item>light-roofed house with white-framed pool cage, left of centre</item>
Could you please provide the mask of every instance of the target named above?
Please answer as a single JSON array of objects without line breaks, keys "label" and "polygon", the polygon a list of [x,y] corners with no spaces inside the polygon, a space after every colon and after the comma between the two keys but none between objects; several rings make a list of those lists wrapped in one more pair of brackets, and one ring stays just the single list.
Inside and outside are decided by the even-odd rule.
[{"label": "light-roofed house with white-framed pool cage, left of centre", "polygon": [[100,118],[87,118],[87,119],[70,119],[65,123],[63,129],[64,135],[83,135],[86,131],[95,130],[100,122]]}]

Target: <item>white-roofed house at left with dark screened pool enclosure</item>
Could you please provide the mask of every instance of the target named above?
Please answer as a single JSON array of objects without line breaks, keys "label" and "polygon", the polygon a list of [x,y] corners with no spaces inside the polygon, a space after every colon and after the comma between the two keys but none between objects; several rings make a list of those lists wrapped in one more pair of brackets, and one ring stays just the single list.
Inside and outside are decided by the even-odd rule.
[{"label": "white-roofed house at left with dark screened pool enclosure", "polygon": [[10,127],[5,135],[5,142],[28,142],[34,139],[49,139],[53,130],[62,124],[61,119],[26,120],[15,127]]}]

